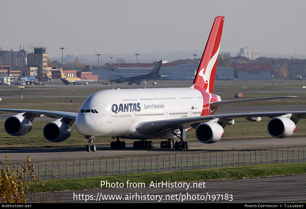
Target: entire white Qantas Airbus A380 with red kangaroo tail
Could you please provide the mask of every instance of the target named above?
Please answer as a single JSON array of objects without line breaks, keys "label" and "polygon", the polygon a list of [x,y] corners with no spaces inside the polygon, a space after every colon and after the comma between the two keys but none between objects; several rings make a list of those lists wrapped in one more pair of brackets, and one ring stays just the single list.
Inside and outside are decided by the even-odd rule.
[{"label": "entire white Qantas Airbus A380 with red kangaroo tail", "polygon": [[[234,124],[235,118],[260,121],[272,118],[267,129],[271,136],[285,138],[293,135],[295,124],[306,118],[306,111],[251,112],[213,114],[218,106],[260,100],[289,98],[271,97],[221,101],[212,94],[224,17],[216,17],[193,84],[189,88],[116,89],[99,91],[89,96],[78,113],[48,110],[0,111],[19,112],[6,119],[4,128],[12,136],[23,136],[31,131],[35,117],[58,118],[47,123],[44,137],[51,142],[66,140],[75,122],[76,130],[88,139],[86,151],[95,151],[95,137],[113,137],[111,148],[124,148],[119,139],[132,139],[134,147],[152,147],[150,139],[165,139],[161,147],[188,149],[185,132],[196,129],[196,138],[205,144],[215,143],[224,135],[223,128]],[[179,140],[174,142],[174,138]]]}]

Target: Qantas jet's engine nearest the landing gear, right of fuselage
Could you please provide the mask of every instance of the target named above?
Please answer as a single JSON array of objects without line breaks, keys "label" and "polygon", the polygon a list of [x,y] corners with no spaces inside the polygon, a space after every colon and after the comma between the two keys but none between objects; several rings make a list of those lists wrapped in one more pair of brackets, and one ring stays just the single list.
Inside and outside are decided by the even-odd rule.
[{"label": "Qantas jet's engine nearest the landing gear, right of fuselage", "polygon": [[196,138],[204,144],[211,144],[219,141],[224,134],[221,125],[214,122],[201,123],[196,127]]}]

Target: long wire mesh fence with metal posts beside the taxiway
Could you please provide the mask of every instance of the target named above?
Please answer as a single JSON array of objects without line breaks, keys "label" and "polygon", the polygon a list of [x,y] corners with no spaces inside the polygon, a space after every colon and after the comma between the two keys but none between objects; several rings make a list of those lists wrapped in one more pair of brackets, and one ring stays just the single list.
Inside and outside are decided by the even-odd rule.
[{"label": "long wire mesh fence with metal posts beside the taxiway", "polygon": [[[34,167],[39,179],[59,179],[288,162],[305,162],[305,147],[37,162]],[[9,164],[9,169],[21,166]],[[3,164],[2,168],[5,167]]]}]

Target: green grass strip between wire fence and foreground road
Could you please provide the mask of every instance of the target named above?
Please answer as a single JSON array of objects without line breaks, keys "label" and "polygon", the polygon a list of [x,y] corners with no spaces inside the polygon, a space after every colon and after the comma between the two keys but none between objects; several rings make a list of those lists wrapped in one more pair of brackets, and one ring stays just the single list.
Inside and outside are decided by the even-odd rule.
[{"label": "green grass strip between wire fence and foreground road", "polygon": [[[279,163],[267,165],[252,165],[252,166],[235,166],[235,167],[220,167],[206,168],[195,170],[180,170],[155,173],[138,173],[138,174],[122,174],[110,176],[96,176],[84,178],[67,178],[44,180],[43,188],[40,181],[32,182],[31,187],[37,188],[36,192],[51,192],[65,190],[82,190],[101,188],[101,181],[123,183],[126,187],[126,182],[129,180],[133,183],[145,183],[149,185],[151,181],[161,182],[196,182],[196,181],[216,181],[225,179],[239,179],[251,177],[305,174],[306,162],[300,163]],[[25,184],[28,184],[25,182]],[[24,184],[24,185],[25,185]],[[30,192],[30,191],[27,191]]]}]

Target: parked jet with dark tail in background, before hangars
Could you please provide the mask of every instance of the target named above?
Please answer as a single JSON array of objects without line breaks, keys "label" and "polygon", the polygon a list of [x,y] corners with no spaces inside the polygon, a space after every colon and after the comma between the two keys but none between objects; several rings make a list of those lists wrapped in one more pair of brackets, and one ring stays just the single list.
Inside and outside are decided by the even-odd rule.
[{"label": "parked jet with dark tail in background, before hangars", "polygon": [[130,84],[139,83],[144,80],[153,80],[156,78],[168,76],[168,75],[159,75],[160,66],[162,65],[162,60],[160,60],[151,73],[114,73],[108,76],[109,81],[114,81],[118,84],[128,81]]}]

